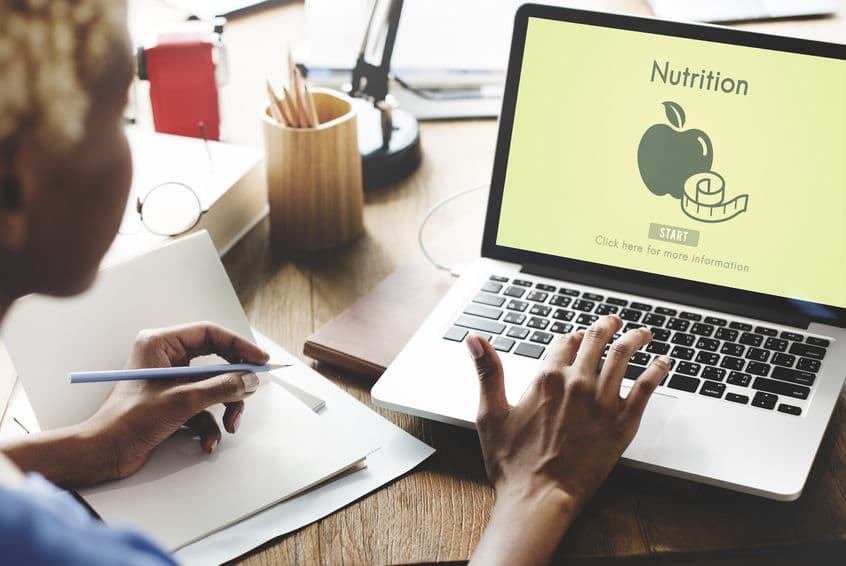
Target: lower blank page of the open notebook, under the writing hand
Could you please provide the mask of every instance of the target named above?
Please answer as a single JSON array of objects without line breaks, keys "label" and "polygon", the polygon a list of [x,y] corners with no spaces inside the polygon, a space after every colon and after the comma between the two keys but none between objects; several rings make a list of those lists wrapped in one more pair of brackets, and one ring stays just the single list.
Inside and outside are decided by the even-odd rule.
[{"label": "lower blank page of the open notebook, under the writing hand", "polygon": [[213,454],[180,431],[134,475],[79,493],[107,523],[131,524],[176,550],[322,483],[378,446],[269,382]]}]

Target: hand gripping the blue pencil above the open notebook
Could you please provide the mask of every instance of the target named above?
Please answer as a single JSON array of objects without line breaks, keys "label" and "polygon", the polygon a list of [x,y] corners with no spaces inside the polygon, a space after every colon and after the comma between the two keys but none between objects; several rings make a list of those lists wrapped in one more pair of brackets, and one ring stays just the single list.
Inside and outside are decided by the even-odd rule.
[{"label": "hand gripping the blue pencil above the open notebook", "polygon": [[[141,332],[126,367],[186,366],[191,359],[217,354],[230,363],[263,364],[268,355],[258,346],[208,323]],[[97,413],[87,421],[112,455],[115,478],[136,472],[153,450],[182,426],[193,430],[205,452],[221,440],[220,428],[205,409],[223,403],[223,426],[238,430],[244,399],[259,385],[251,373],[226,373],[197,381],[118,382]]]}]

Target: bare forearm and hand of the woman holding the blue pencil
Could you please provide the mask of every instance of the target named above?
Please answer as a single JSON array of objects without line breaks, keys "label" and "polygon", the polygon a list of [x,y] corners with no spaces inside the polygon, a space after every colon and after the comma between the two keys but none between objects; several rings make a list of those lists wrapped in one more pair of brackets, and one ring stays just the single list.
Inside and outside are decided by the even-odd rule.
[{"label": "bare forearm and hand of the woman holding the blue pencil", "polygon": [[[217,354],[229,362],[265,363],[258,346],[207,323],[145,331],[127,362],[128,368],[188,365],[192,358]],[[61,429],[31,434],[0,446],[23,471],[75,488],[126,477],[149,459],[153,450],[182,426],[199,437],[205,452],[221,440],[220,427],[205,409],[226,406],[223,425],[238,429],[244,399],[257,388],[254,374],[223,374],[200,381],[125,381],[91,418]]]}]

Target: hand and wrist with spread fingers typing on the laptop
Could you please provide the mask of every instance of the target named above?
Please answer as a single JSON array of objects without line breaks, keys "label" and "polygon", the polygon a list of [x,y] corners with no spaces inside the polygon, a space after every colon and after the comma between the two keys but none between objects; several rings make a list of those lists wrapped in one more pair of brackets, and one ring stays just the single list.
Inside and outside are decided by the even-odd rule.
[{"label": "hand and wrist with spread fingers typing on the laptop", "polygon": [[628,397],[621,398],[620,385],[632,354],[652,339],[646,329],[630,330],[611,344],[599,369],[605,346],[621,327],[619,317],[604,317],[585,332],[559,338],[516,406],[506,400],[496,351],[478,337],[467,339],[481,386],[479,439],[488,478],[497,492],[474,559],[549,560],[576,514],[634,438],[670,360],[656,358]]}]

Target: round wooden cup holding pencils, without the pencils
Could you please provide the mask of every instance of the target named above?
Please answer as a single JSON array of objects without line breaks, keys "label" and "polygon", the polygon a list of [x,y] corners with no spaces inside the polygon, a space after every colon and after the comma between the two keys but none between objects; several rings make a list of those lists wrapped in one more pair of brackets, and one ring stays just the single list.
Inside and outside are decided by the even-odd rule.
[{"label": "round wooden cup holding pencils, without the pencils", "polygon": [[275,248],[336,248],[364,231],[361,154],[352,101],[315,88],[316,128],[289,128],[262,113],[270,237]]}]

